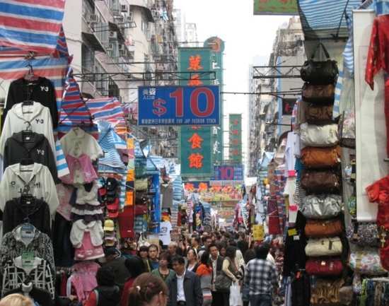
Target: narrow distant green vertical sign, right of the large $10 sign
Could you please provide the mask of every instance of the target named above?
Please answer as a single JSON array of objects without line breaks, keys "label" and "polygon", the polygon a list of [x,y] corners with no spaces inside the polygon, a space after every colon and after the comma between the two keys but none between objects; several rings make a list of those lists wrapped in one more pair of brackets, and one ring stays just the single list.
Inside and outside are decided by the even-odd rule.
[{"label": "narrow distant green vertical sign, right of the large $10 sign", "polygon": [[229,117],[230,145],[229,155],[233,163],[242,163],[242,115],[230,114]]}]

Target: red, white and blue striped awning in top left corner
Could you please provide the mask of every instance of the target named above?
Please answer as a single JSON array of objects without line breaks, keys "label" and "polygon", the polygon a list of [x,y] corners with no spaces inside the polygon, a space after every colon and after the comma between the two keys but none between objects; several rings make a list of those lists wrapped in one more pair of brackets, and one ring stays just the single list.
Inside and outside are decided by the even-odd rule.
[{"label": "red, white and blue striped awning in top left corner", "polygon": [[64,6],[65,0],[0,0],[0,45],[53,54]]}]

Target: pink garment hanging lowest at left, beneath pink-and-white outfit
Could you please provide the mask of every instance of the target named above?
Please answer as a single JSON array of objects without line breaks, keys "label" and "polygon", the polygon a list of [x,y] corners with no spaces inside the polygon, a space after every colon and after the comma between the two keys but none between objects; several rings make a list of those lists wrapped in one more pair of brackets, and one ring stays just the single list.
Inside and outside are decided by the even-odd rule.
[{"label": "pink garment hanging lowest at left, beneath pink-and-white outfit", "polygon": [[100,268],[99,264],[93,261],[83,261],[74,264],[74,272],[71,274],[71,285],[76,290],[79,301],[88,298],[89,293],[98,286],[96,273]]}]

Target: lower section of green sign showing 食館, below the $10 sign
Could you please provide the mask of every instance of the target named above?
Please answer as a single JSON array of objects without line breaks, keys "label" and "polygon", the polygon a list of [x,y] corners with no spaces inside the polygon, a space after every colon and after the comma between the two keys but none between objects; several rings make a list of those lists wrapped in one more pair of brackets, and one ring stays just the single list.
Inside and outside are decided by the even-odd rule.
[{"label": "lower section of green sign showing \u98df\u9928, below the $10 sign", "polygon": [[211,127],[181,126],[182,177],[208,177],[213,172]]}]

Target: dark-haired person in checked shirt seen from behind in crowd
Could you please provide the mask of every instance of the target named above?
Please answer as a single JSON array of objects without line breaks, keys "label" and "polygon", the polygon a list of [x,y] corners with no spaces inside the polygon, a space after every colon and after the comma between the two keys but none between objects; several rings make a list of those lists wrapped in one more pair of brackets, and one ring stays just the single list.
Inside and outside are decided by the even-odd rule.
[{"label": "dark-haired person in checked shirt seen from behind in crowd", "polygon": [[251,306],[272,306],[272,294],[277,290],[278,278],[276,267],[268,261],[268,245],[255,249],[255,259],[248,262],[245,273],[245,286],[250,290]]}]

